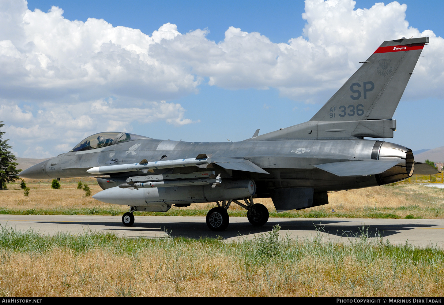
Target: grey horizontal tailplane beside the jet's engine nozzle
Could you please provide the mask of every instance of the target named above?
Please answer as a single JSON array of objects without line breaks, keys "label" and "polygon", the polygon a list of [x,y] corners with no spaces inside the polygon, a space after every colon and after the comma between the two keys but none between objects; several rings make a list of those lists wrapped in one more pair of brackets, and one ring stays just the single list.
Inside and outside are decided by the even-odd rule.
[{"label": "grey horizontal tailplane beside the jet's engine nozzle", "polygon": [[398,164],[398,161],[356,160],[313,165],[336,176],[370,176],[381,174]]}]

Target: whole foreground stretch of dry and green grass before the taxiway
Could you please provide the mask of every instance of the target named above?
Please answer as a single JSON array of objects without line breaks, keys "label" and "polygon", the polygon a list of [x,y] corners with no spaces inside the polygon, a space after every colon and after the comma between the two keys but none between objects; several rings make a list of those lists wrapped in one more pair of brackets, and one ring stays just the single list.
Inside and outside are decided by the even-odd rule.
[{"label": "whole foreground stretch of dry and green grass before the taxiway", "polygon": [[442,296],[444,253],[369,242],[42,237],[3,229],[2,296]]}]

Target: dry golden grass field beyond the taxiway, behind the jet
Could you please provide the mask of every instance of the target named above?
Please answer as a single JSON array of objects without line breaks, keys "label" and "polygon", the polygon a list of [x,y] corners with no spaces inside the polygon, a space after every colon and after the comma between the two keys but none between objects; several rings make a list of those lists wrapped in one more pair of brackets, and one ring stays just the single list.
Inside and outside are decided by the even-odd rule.
[{"label": "dry golden grass field beyond the taxiway, behind the jet", "polygon": [[[101,191],[95,178],[80,178],[91,188]],[[9,190],[0,192],[1,214],[51,214],[51,215],[120,215],[127,206],[112,205],[85,197],[77,189],[79,178],[62,180],[61,189],[52,189],[51,180],[25,179],[31,188],[29,197],[23,196],[20,180],[9,184]],[[353,217],[353,218],[423,218],[444,217],[444,189],[429,188],[418,184],[397,184],[329,193],[329,204],[300,211],[277,213],[270,198],[255,199],[270,211],[270,217]],[[206,215],[215,203],[195,203],[190,207],[172,207],[166,213],[151,212],[141,215]],[[332,209],[335,210],[332,213]],[[246,211],[236,204],[229,209],[232,216],[245,216]]]}]

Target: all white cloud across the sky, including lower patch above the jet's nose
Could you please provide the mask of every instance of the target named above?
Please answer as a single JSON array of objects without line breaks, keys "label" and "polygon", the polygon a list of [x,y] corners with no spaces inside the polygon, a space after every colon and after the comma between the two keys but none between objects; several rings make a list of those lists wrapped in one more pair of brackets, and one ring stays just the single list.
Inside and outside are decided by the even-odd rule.
[{"label": "all white cloud across the sky, including lower patch above the jet's nose", "polygon": [[63,135],[52,143],[61,151],[103,127],[191,123],[180,104],[166,101],[198,93],[204,79],[225,89],[274,87],[293,100],[322,103],[359,61],[401,36],[430,37],[404,96],[419,98],[427,85],[428,95],[440,98],[444,39],[410,27],[405,4],[354,5],[306,0],[303,35],[273,43],[235,27],[220,42],[207,39],[207,30],[179,33],[171,23],[148,35],[105,20],[67,20],[58,7],[30,11],[24,0],[1,1],[0,115],[9,137],[28,145]]}]

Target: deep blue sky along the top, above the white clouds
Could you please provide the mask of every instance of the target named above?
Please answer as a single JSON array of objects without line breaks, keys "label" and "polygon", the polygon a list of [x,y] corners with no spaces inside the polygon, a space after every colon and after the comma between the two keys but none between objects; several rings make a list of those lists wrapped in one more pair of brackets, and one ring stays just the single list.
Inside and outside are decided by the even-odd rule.
[{"label": "deep blue sky along the top, above the white clouds", "polygon": [[[358,0],[355,8],[370,8],[377,1]],[[387,1],[385,4],[392,2]],[[407,20],[420,31],[432,29],[443,36],[442,22],[444,2],[398,1],[407,4]],[[28,8],[39,8],[46,12],[52,5],[63,8],[63,16],[69,20],[86,21],[88,18],[104,19],[114,26],[137,28],[152,33],[164,23],[174,23],[181,33],[208,27],[211,40],[224,39],[230,26],[242,31],[259,32],[273,42],[286,42],[301,35],[305,20],[304,1],[68,1],[28,0]]]}]

